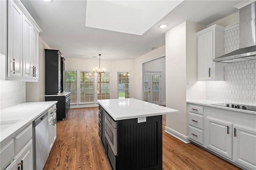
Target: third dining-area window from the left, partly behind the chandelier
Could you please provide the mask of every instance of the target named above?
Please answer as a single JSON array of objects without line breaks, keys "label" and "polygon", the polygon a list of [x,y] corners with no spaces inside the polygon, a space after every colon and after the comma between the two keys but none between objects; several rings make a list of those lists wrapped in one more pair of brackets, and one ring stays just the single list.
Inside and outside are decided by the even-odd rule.
[{"label": "third dining-area window from the left, partly behind the chandelier", "polygon": [[110,72],[97,73],[97,98],[110,99]]}]

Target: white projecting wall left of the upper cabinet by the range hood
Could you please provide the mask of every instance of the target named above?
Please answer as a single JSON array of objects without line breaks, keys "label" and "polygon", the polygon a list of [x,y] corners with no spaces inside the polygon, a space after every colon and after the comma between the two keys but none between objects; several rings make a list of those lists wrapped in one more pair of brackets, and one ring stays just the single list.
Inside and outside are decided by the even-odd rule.
[{"label": "white projecting wall left of the upper cabinet by the range hood", "polygon": [[[182,138],[188,134],[186,99],[196,93],[197,98],[205,99],[206,85],[196,81],[195,33],[204,26],[192,22],[182,22],[166,32],[166,107],[179,110],[178,114],[166,115],[166,131],[176,133]],[[193,49],[194,48],[194,49]],[[191,84],[187,87],[187,81]],[[192,92],[192,85],[201,91]],[[189,94],[186,91],[191,91]]]}]

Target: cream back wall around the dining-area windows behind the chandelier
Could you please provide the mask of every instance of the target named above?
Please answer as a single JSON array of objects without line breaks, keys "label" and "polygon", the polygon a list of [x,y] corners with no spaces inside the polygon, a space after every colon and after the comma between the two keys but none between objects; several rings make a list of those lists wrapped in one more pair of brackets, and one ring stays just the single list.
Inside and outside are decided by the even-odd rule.
[{"label": "cream back wall around the dining-area windows behind the chandelier", "polygon": [[[103,55],[102,55],[103,56]],[[106,61],[101,57],[101,67],[112,73],[112,99],[118,97],[117,72],[131,71],[131,98],[142,99],[142,64],[165,56],[165,46],[150,51],[137,59]],[[93,67],[99,67],[99,59],[66,58],[65,70],[91,71]]]}]

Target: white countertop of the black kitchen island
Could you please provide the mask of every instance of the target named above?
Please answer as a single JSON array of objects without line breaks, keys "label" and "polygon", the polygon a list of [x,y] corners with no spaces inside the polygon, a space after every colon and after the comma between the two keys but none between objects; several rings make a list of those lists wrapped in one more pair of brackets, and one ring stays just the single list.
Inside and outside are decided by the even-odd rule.
[{"label": "white countertop of the black kitchen island", "polygon": [[138,99],[105,99],[99,104],[116,121],[138,117],[149,117],[178,113],[178,110],[148,103]]}]

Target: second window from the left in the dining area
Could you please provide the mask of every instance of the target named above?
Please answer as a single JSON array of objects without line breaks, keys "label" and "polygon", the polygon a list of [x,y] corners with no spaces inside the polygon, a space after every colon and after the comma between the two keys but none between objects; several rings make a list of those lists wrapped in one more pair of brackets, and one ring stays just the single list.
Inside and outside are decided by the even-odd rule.
[{"label": "second window from the left in the dining area", "polygon": [[80,71],[80,103],[94,102],[94,72]]}]

